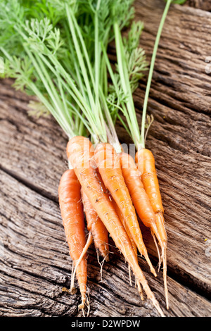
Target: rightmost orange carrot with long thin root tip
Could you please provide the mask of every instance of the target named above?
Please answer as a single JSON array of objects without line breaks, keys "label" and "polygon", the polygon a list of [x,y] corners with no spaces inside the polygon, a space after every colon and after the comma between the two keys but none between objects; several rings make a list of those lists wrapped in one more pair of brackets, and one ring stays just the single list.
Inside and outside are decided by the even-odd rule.
[{"label": "rightmost orange carrot with long thin root tip", "polygon": [[136,152],[136,163],[141,173],[141,180],[143,187],[146,190],[151,206],[156,217],[156,225],[162,241],[162,263],[163,263],[163,277],[165,282],[165,296],[168,305],[168,292],[167,292],[167,233],[164,223],[164,208],[162,206],[162,198],[160,194],[160,187],[158,177],[155,169],[155,159],[153,153],[149,149],[139,149]]}]

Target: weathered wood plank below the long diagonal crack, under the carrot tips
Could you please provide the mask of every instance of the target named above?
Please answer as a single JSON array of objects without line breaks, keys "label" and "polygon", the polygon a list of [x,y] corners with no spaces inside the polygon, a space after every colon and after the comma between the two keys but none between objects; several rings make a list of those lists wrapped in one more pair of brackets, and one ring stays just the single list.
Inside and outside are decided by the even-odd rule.
[{"label": "weathered wood plank below the long diagonal crack, under the carrot tips", "polygon": [[[72,261],[58,204],[3,171],[0,185],[0,316],[80,316],[79,293],[71,296],[63,292],[63,287],[70,286]],[[101,280],[94,247],[89,248],[90,316],[158,316],[150,301],[141,301],[136,289],[130,287],[122,256],[113,246],[110,251]],[[149,276],[145,261],[139,261],[160,304],[165,306],[162,275]],[[210,315],[209,301],[170,277],[168,282],[171,308],[167,316]]]}]

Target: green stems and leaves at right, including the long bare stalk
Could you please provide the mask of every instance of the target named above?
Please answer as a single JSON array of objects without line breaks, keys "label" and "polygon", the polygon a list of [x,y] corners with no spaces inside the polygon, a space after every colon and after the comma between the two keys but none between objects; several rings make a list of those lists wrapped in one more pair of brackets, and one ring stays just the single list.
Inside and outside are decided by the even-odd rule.
[{"label": "green stems and leaves at right, including the long bare stalk", "polygon": [[[107,101],[110,104],[110,113],[114,120],[118,117],[124,128],[132,137],[136,149],[144,148],[146,134],[148,127],[153,121],[153,117],[146,114],[148,95],[151,87],[151,80],[153,76],[153,70],[155,65],[155,58],[158,51],[158,44],[160,41],[160,35],[162,33],[162,27],[165,23],[165,18],[169,11],[171,4],[184,4],[184,0],[167,0],[165,9],[162,13],[160,25],[155,39],[153,48],[153,54],[151,58],[151,64],[148,73],[148,80],[146,85],[146,92],[143,102],[143,111],[141,118],[141,129],[136,116],[136,110],[134,106],[133,93],[139,84],[139,80],[143,77],[143,72],[148,70],[148,63],[143,49],[140,46],[140,35],[143,28],[143,23],[133,22],[131,30],[127,37],[122,37],[120,27],[117,22],[114,22],[113,30],[115,33],[115,46],[117,52],[116,70],[113,72],[111,65],[107,59],[106,63],[108,71],[112,80],[110,84]],[[125,120],[123,120],[122,113]]]}]

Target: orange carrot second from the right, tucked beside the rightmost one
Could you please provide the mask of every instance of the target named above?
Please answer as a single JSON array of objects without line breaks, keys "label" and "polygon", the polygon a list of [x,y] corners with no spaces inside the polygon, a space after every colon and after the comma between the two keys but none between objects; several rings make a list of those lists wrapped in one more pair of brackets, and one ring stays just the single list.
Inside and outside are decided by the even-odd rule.
[{"label": "orange carrot second from the right, tucked beside the rightmost one", "polygon": [[161,247],[162,240],[160,239],[160,234],[158,232],[156,216],[151,206],[151,201],[146,194],[143,183],[141,181],[140,172],[136,167],[134,158],[132,158],[132,156],[127,153],[122,152],[120,154],[120,163],[122,168],[122,175],[129,190],[129,194],[132,198],[136,212],[138,213],[139,218],[143,224],[151,229],[160,261],[160,252],[155,241],[155,237],[157,237]]}]

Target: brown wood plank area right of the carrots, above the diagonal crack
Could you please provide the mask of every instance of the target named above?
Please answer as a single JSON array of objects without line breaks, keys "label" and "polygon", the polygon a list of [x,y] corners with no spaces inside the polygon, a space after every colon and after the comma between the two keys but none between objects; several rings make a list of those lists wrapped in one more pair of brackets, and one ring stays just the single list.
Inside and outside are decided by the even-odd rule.
[{"label": "brown wood plank area right of the carrots, above the diagonal crack", "polygon": [[[157,0],[136,1],[137,18],[145,25],[141,44],[149,60],[163,6]],[[155,120],[146,142],[155,155],[165,206],[168,268],[205,293],[210,292],[211,275],[210,254],[206,254],[210,241],[204,242],[210,238],[211,216],[211,144],[207,137],[211,77],[205,71],[210,19],[210,13],[197,9],[170,9],[153,74],[148,113]],[[140,120],[145,86],[143,80],[134,96]],[[121,127],[118,133],[124,141]]]}]

